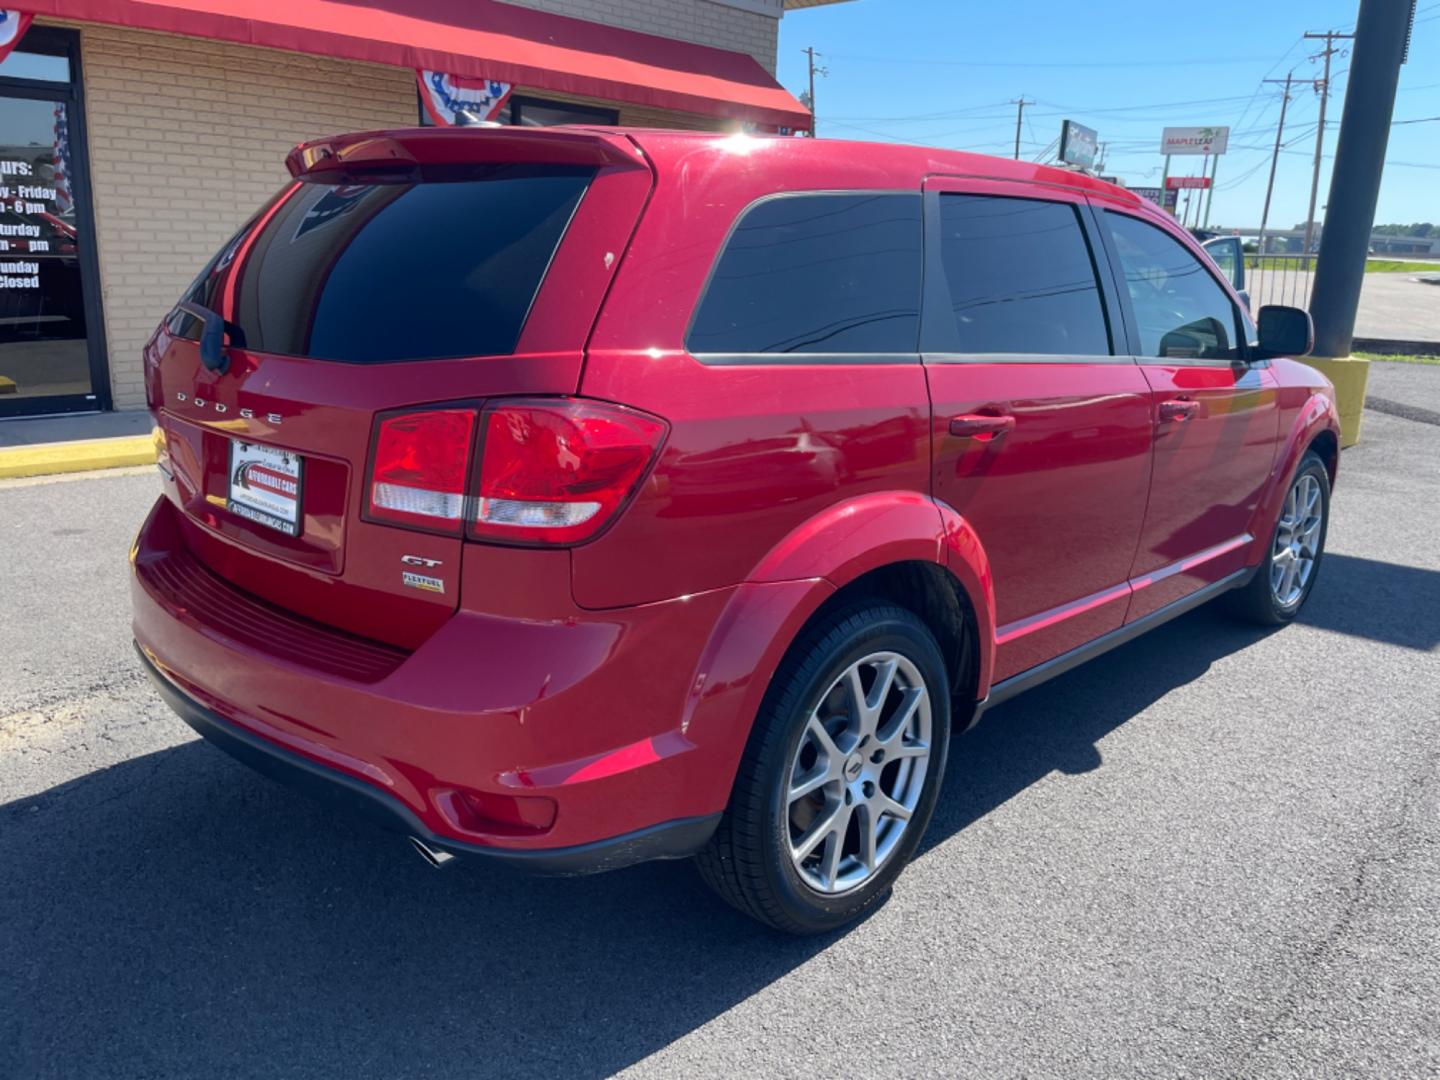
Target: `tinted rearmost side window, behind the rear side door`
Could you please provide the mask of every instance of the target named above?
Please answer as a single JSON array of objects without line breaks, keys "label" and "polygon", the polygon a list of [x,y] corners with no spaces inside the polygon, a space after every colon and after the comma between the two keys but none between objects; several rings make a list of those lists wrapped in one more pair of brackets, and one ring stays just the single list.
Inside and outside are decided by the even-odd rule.
[{"label": "tinted rearmost side window, behind the rear side door", "polygon": [[798,194],[750,207],[696,312],[691,353],[914,353],[920,196]]}]

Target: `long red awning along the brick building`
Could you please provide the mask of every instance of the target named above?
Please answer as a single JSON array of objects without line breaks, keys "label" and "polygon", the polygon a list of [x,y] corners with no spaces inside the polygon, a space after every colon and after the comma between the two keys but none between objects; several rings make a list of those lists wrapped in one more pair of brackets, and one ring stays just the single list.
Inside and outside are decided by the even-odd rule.
[{"label": "long red awning along the brick building", "polygon": [[40,16],[809,128],[805,107],[753,56],[495,0],[22,0],[20,7]]}]

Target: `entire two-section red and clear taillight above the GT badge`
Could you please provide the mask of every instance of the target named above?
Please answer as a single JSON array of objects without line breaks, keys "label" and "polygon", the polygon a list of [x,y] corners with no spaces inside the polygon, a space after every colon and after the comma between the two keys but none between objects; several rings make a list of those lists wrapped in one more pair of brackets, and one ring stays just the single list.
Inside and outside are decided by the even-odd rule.
[{"label": "entire two-section red and clear taillight above the GT badge", "polygon": [[474,540],[580,543],[625,505],[664,438],[664,420],[573,397],[390,413],[376,428],[366,517],[451,534],[468,527]]}]

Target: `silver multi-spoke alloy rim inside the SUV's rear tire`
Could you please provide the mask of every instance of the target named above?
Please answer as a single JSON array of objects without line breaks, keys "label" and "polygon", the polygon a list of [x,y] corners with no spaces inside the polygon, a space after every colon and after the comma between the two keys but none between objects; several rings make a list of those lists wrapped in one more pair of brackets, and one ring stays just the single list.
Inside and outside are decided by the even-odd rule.
[{"label": "silver multi-spoke alloy rim inside the SUV's rear tire", "polygon": [[844,893],[900,844],[930,768],[930,694],[899,652],[847,667],[811,711],[786,772],[789,854],[806,886]]}]

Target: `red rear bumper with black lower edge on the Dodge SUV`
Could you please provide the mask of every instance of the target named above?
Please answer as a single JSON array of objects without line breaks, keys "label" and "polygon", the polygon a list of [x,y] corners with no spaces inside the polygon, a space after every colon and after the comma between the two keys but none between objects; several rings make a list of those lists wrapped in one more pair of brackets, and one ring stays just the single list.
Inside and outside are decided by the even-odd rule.
[{"label": "red rear bumper with black lower edge on the Dodge SUV", "polygon": [[[706,842],[768,672],[828,593],[750,583],[586,611],[567,563],[507,562],[508,579],[467,572],[475,602],[418,648],[377,651],[197,564],[192,527],[161,498],[131,553],[135,644],[192,727],[433,848],[562,873]],[[477,612],[487,590],[508,606]],[[475,798],[553,814],[497,821]]]}]

